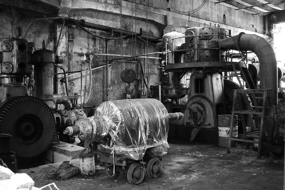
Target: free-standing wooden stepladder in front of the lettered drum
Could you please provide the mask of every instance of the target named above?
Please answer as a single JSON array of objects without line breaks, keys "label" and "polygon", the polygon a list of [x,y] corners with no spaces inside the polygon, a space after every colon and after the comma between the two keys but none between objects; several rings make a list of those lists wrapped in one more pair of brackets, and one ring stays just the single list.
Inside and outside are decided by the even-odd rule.
[{"label": "free-standing wooden stepladder in front of the lettered drum", "polygon": [[[234,99],[233,99],[233,108],[232,108],[232,115],[231,115],[231,125],[230,125],[227,153],[231,152],[231,142],[232,141],[245,142],[247,149],[249,149],[248,143],[258,143],[257,159],[261,157],[260,155],[261,155],[261,146],[262,146],[262,131],[263,131],[263,125],[265,122],[265,117],[270,109],[270,106],[272,105],[271,99],[270,99],[271,93],[272,93],[272,89],[234,90]],[[253,107],[250,106],[249,110],[243,110],[243,107],[241,106],[242,104],[241,98],[243,96],[249,96],[249,95],[251,95],[254,105]],[[235,110],[236,101],[238,101],[239,103],[239,111]],[[235,114],[241,115],[243,133],[244,133],[245,138],[242,138],[242,139],[232,138]],[[258,129],[259,129],[258,132],[255,132],[255,134],[247,134],[244,115],[256,116],[254,121],[256,123],[256,126],[258,126]],[[258,141],[248,140],[248,137],[258,138],[259,140]]]}]

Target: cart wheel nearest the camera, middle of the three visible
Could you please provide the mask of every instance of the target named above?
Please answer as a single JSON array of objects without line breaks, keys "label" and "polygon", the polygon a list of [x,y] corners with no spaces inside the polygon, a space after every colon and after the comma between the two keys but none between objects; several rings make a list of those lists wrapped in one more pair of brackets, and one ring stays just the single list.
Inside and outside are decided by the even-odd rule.
[{"label": "cart wheel nearest the camera, middle of the three visible", "polygon": [[143,181],[144,174],[143,166],[133,163],[128,169],[127,178],[131,184],[139,184]]}]

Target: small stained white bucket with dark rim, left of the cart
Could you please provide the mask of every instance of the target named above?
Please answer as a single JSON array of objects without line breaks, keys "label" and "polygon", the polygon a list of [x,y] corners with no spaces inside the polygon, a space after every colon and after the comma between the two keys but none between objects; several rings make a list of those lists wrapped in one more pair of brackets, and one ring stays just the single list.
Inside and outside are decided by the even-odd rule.
[{"label": "small stained white bucket with dark rim, left of the cart", "polygon": [[84,175],[95,174],[95,160],[94,154],[86,153],[79,155],[80,173]]}]

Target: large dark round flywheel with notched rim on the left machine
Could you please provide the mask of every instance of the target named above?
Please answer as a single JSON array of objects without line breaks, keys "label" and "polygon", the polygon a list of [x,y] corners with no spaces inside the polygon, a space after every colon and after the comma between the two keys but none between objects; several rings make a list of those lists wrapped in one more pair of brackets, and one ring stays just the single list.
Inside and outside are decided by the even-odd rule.
[{"label": "large dark round flywheel with notched rim on the left machine", "polygon": [[17,157],[31,158],[45,152],[55,135],[50,108],[32,96],[9,99],[0,107],[0,133],[11,134],[11,150]]}]

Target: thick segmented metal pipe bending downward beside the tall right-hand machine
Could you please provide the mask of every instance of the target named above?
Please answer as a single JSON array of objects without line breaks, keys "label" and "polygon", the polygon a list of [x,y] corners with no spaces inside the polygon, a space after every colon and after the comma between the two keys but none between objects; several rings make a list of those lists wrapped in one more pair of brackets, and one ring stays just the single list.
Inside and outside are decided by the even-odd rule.
[{"label": "thick segmented metal pipe bending downward beside the tall right-hand machine", "polygon": [[272,89],[272,105],[277,105],[277,61],[269,42],[255,34],[241,33],[219,40],[219,43],[221,48],[239,51],[249,50],[257,55],[260,65],[260,89]]}]

